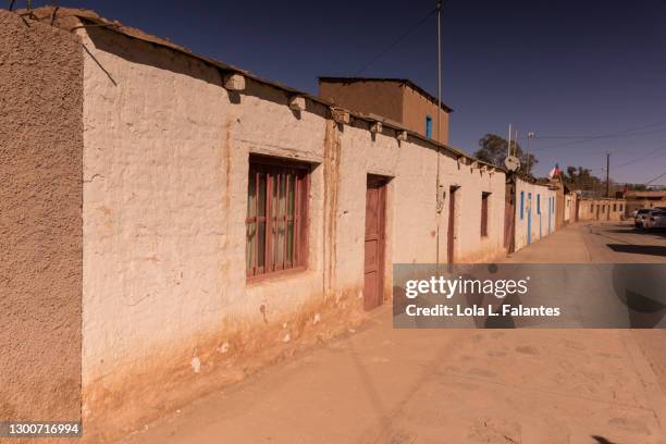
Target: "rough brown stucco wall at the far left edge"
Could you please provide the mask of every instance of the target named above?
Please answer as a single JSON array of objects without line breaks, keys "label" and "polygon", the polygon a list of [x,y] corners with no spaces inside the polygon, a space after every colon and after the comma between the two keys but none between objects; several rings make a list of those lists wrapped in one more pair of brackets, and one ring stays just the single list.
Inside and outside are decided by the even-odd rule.
[{"label": "rough brown stucco wall at the far left edge", "polygon": [[0,10],[0,421],[78,420],[83,58]]}]

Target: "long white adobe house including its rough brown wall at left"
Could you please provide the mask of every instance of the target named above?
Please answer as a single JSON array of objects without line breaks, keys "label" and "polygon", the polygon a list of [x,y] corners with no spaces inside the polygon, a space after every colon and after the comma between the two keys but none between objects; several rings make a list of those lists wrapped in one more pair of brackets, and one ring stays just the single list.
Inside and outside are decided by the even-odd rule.
[{"label": "long white adobe house including its rough brown wall at left", "polygon": [[[0,11],[0,420],[81,412],[109,441],[346,332],[391,301],[395,263],[506,252],[504,170],[423,119],[91,11]],[[421,95],[403,87],[396,109]]]}]

